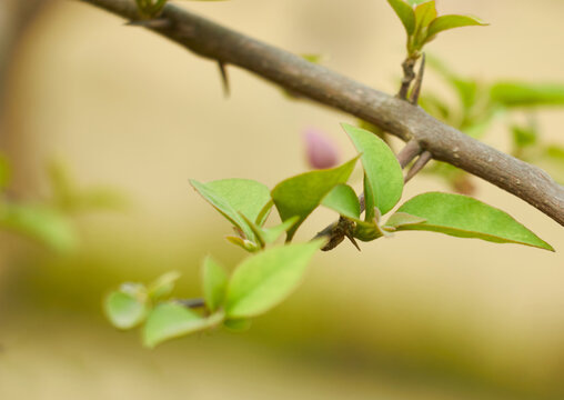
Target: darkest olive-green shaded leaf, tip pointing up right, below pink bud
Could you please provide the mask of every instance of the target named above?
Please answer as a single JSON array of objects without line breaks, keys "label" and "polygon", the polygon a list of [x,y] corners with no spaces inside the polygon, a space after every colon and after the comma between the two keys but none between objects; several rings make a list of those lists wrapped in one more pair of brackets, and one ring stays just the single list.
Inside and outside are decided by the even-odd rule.
[{"label": "darkest olive-green shaded leaf, tip pointing up right, below pink bud", "polygon": [[349,180],[357,159],[356,157],[333,169],[305,172],[276,184],[272,190],[272,199],[282,221],[295,216],[300,218],[288,231],[289,241],[331,189]]}]

